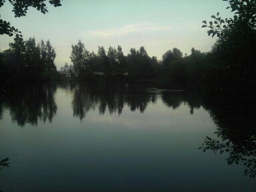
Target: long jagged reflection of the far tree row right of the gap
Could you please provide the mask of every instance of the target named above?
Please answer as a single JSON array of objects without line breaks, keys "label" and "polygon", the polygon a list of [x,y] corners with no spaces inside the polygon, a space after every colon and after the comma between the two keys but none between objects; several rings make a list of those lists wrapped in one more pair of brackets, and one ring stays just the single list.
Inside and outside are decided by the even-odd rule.
[{"label": "long jagged reflection of the far tree row right of the gap", "polygon": [[164,104],[170,108],[178,108],[182,102],[188,104],[190,113],[194,108],[200,108],[199,96],[186,95],[186,92],[158,90],[155,88],[142,89],[130,84],[79,84],[74,88],[72,101],[73,114],[82,120],[90,110],[98,108],[100,114],[106,109],[110,114],[122,114],[124,106],[131,111],[143,113],[149,103],[156,103],[160,96]]}]

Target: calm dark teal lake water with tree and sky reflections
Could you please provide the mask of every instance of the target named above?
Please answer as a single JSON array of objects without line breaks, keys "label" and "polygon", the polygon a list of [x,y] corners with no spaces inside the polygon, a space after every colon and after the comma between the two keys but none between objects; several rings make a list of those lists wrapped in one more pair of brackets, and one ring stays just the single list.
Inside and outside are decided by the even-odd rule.
[{"label": "calm dark teal lake water with tree and sky reflections", "polygon": [[214,132],[232,140],[220,130],[235,123],[222,107],[153,85],[20,87],[0,99],[0,158],[10,158],[1,190],[255,191],[241,161],[228,165],[228,152],[198,150]]}]

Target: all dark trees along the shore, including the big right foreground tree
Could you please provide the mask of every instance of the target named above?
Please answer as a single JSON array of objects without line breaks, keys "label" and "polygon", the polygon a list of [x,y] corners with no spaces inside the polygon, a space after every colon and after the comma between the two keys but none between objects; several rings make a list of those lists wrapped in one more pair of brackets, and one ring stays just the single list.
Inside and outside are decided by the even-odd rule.
[{"label": "all dark trees along the shore, including the big right foreground tree", "polygon": [[[144,46],[131,48],[125,56],[122,47],[110,46],[98,52],[89,52],[78,41],[72,45],[70,59],[78,80],[93,80],[94,72],[104,72],[106,80],[151,79],[166,84],[199,86],[214,94],[243,95],[252,90],[256,82],[256,3],[253,0],[229,1],[234,18],[223,19],[220,13],[213,21],[203,21],[209,36],[218,36],[210,52],[192,48],[183,55],[178,48],[166,51],[161,60],[150,57]],[[36,44],[34,38],[26,41],[14,38],[10,48],[0,52],[2,82],[50,81],[58,76],[54,59],[56,52],[50,41]],[[75,77],[75,76],[74,76]]]}]

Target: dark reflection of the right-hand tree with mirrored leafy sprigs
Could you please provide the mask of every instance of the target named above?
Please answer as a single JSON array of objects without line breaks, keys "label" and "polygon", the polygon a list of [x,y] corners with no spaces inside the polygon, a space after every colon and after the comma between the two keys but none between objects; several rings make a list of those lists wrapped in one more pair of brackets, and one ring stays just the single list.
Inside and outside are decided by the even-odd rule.
[{"label": "dark reflection of the right-hand tree with mirrored leafy sprigs", "polygon": [[256,176],[256,112],[246,104],[206,105],[214,123],[218,126],[215,132],[219,139],[206,137],[202,144],[203,151],[229,153],[226,158],[229,165],[242,163],[244,174]]}]

